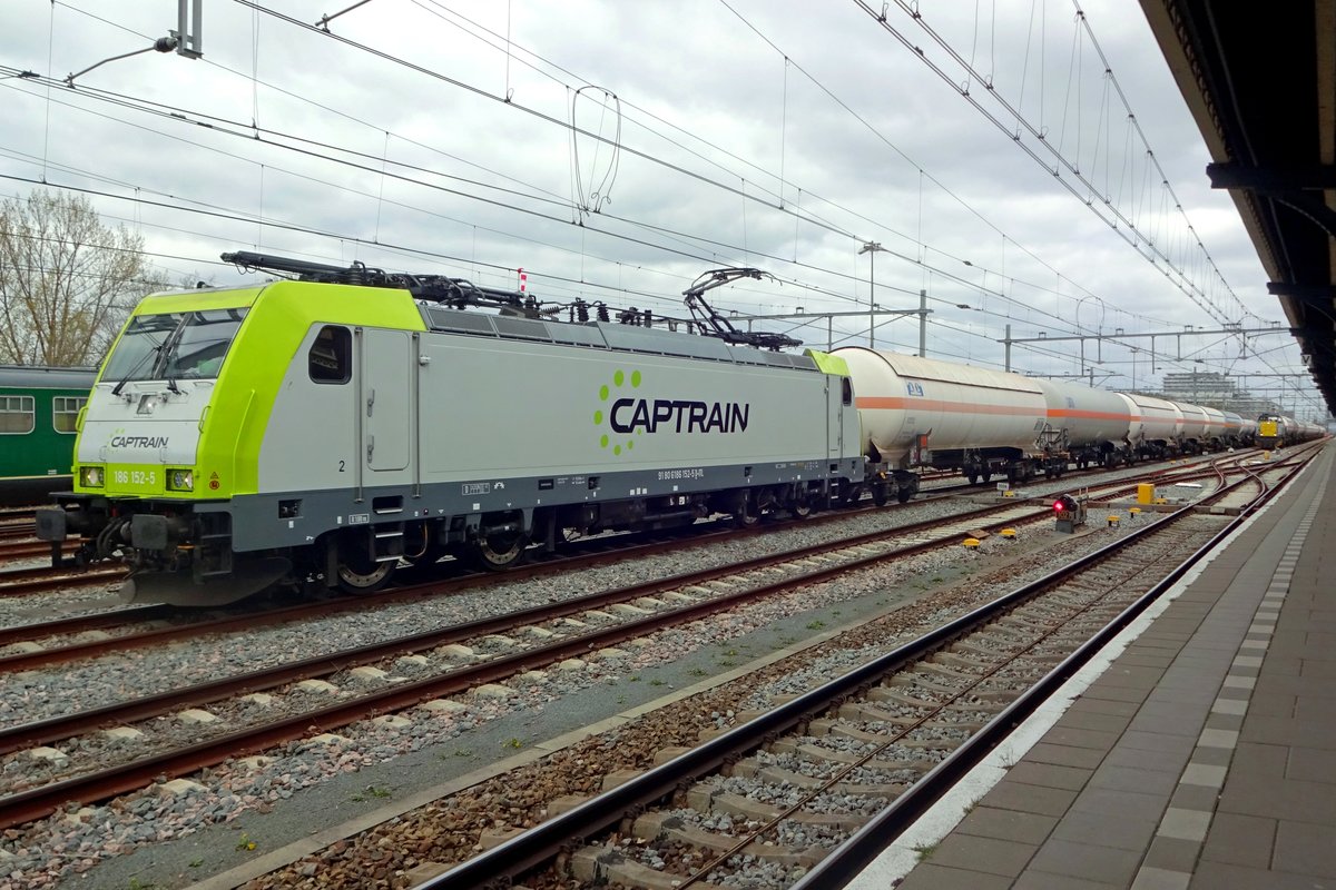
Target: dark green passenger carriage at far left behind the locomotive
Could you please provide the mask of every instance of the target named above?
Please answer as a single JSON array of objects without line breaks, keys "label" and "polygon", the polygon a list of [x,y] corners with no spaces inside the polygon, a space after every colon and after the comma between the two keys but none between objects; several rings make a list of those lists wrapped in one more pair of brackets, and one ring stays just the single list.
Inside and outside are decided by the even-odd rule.
[{"label": "dark green passenger carriage at far left behind the locomotive", "polygon": [[0,364],[0,504],[69,487],[75,427],[98,372]]}]

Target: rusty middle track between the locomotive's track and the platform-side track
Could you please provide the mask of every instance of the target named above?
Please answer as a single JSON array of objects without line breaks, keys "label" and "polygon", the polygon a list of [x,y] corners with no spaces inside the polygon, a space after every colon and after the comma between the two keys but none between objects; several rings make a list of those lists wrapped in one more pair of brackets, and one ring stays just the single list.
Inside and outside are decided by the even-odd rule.
[{"label": "rusty middle track between the locomotive's track and the platform-side track", "polygon": [[[1128,484],[1117,483],[1109,488],[1125,490]],[[607,650],[667,626],[735,608],[748,600],[799,586],[822,583],[886,559],[904,559],[933,548],[954,547],[962,538],[981,528],[998,531],[1005,526],[1034,522],[1047,515],[1047,503],[993,504],[946,522],[931,520],[798,551],[759,556],[740,566],[632,584],[518,614],[322,654],[159,695],[12,726],[0,730],[0,754],[9,755],[11,759],[23,757],[32,761],[31,753],[35,749],[108,726],[116,727],[110,737],[112,739],[139,739],[146,735],[146,730],[156,731],[146,726],[147,721],[202,706],[210,706],[211,717],[224,718],[219,719],[219,725],[234,729],[246,722],[248,710],[236,702],[254,701],[243,697],[254,695],[257,691],[266,694],[278,691],[285,698],[302,698],[291,695],[291,685],[306,683],[306,689],[310,689],[313,679],[335,678],[346,686],[350,675],[359,674],[362,678],[375,679],[393,677],[395,671],[403,673],[402,659],[406,654],[425,654],[433,656],[436,662],[445,662],[432,677],[407,679],[399,675],[394,678],[397,682],[357,694],[351,701],[347,701],[349,694],[345,693],[345,701],[331,707],[311,709],[309,703],[303,703],[294,714],[283,718],[271,710],[251,713],[248,719],[254,725],[240,731],[211,734],[207,729],[190,726],[184,734],[194,743],[180,749],[171,747],[170,733],[166,735],[158,733],[159,737],[168,739],[166,750],[144,754],[154,747],[151,743],[144,743],[134,750],[135,757],[126,759],[130,753],[126,746],[84,738],[77,745],[67,746],[77,751],[77,757],[51,757],[43,763],[44,769],[28,770],[19,785],[9,785],[11,794],[0,798],[0,826],[8,827],[39,818],[53,811],[63,801],[104,799],[142,786],[146,777],[182,775],[218,763],[236,753],[259,751],[282,741],[301,738],[313,725],[337,727],[369,714],[409,707],[484,683],[513,679],[525,671],[578,658],[591,651]],[[146,620],[150,616],[140,612],[135,618]],[[218,632],[223,628],[244,627],[253,622],[253,616],[232,616],[208,622],[206,626]],[[164,643],[199,632],[199,626],[155,627],[126,638],[95,639],[41,651],[19,651],[0,659],[0,669],[32,670],[75,655]],[[476,659],[478,663],[469,663]],[[199,741],[211,735],[216,738]],[[159,747],[163,747],[162,743]],[[108,762],[118,759],[118,755],[124,762],[107,766]],[[92,769],[94,766],[98,769]]]}]

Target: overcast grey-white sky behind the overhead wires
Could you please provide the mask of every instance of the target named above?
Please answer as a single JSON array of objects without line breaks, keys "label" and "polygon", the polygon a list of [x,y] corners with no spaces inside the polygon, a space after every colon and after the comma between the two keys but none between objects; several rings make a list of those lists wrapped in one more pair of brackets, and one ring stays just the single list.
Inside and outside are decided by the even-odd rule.
[{"label": "overcast grey-white sky behind the overhead wires", "polygon": [[[490,287],[522,267],[541,299],[683,315],[697,275],[751,266],[775,280],[707,296],[766,315],[866,312],[872,278],[884,308],[927,291],[930,356],[989,367],[1007,324],[1284,324],[1129,0],[1083,21],[1069,0],[891,4],[884,27],[852,0],[369,0],[306,27],[354,3],[208,0],[202,59],[144,52],[71,89],[175,29],[175,0],[8,0],[0,192],[90,189],[172,280],[255,280],[231,250]],[[892,318],[876,344],[915,351]],[[764,326],[827,346],[824,320]],[[866,343],[866,315],[831,338]],[[1146,339],[1081,351],[1015,344],[1013,368],[1303,372],[1288,335],[1161,338],[1154,372]],[[1320,403],[1287,382],[1300,414]]]}]

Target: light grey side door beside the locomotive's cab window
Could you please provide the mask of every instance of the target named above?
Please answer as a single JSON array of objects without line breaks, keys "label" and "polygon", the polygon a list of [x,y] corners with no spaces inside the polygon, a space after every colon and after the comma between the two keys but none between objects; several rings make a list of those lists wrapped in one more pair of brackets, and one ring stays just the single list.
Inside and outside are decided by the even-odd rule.
[{"label": "light grey side door beside the locomotive's cab window", "polygon": [[358,411],[362,454],[373,472],[409,466],[411,364],[406,331],[359,331]]}]

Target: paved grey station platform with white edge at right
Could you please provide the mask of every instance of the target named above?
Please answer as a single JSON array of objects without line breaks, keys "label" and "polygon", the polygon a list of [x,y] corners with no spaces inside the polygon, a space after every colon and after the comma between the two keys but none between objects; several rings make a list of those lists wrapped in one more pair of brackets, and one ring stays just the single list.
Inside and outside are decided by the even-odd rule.
[{"label": "paved grey station platform with white edge at right", "polygon": [[953,793],[950,834],[918,823],[848,886],[1336,887],[1333,463],[1328,446],[1057,723],[1023,725],[1038,741],[1001,782]]}]

